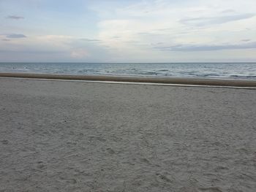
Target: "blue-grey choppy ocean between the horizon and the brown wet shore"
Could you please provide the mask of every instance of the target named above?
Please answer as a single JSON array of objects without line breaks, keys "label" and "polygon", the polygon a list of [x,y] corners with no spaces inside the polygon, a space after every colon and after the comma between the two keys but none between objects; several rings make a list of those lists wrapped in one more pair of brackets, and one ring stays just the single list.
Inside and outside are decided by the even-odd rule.
[{"label": "blue-grey choppy ocean between the horizon and the brown wet shore", "polygon": [[0,63],[0,72],[256,80],[256,63]]}]

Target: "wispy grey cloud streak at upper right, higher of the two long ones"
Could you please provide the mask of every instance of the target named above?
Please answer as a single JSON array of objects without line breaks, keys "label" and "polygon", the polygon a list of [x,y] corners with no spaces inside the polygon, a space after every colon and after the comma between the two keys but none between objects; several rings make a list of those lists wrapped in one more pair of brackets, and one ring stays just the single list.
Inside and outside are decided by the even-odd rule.
[{"label": "wispy grey cloud streak at upper right, higher of the two long ones", "polygon": [[230,15],[230,16],[222,16],[217,18],[187,18],[181,19],[180,23],[185,25],[192,26],[208,26],[208,25],[216,25],[222,23],[228,23],[235,20],[244,20],[248,18],[254,17],[255,14],[241,14],[241,15]]}]

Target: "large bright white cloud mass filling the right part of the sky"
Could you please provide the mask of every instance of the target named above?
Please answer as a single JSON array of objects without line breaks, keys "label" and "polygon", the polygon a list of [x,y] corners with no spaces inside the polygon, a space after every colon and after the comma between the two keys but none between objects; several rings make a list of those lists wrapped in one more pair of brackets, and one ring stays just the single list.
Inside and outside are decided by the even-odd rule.
[{"label": "large bright white cloud mass filling the right part of the sky", "polygon": [[132,55],[172,59],[170,52],[157,53],[154,45],[159,43],[162,47],[190,46],[194,51],[204,47],[214,58],[219,57],[216,50],[247,49],[231,46],[241,39],[256,42],[256,1],[252,0],[139,1],[116,8],[105,4],[103,14],[102,9],[94,10],[101,18],[98,38],[124,60]]}]

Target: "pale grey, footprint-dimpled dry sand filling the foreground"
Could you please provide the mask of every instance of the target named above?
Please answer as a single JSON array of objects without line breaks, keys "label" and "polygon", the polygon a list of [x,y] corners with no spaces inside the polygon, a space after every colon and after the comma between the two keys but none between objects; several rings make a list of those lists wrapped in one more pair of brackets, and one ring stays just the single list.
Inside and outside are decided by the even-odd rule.
[{"label": "pale grey, footprint-dimpled dry sand filling the foreground", "polygon": [[255,191],[256,90],[0,78],[0,191]]}]

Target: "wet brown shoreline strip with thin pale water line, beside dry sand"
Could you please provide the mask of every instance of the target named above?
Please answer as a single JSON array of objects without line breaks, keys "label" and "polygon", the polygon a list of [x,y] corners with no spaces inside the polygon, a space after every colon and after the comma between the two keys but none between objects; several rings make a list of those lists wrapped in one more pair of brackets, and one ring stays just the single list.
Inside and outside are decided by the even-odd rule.
[{"label": "wet brown shoreline strip with thin pale water line, beside dry sand", "polygon": [[16,77],[46,80],[88,80],[101,82],[145,82],[176,85],[211,85],[230,87],[256,88],[256,80],[224,80],[201,79],[183,77],[124,77],[124,76],[99,76],[99,75],[73,75],[73,74],[32,74],[32,73],[5,73],[0,72],[0,77]]}]

